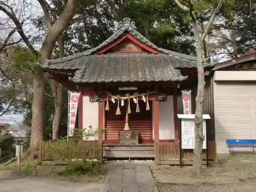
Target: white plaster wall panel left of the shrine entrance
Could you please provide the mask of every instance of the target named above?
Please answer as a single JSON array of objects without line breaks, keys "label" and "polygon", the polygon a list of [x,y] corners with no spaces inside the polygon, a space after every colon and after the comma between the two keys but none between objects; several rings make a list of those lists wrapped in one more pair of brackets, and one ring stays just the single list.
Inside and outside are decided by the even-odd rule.
[{"label": "white plaster wall panel left of the shrine entrance", "polygon": [[[82,127],[86,129],[92,125],[93,129],[98,129],[98,116],[99,108],[98,103],[92,103],[89,101],[88,96],[82,97]],[[84,139],[84,138],[83,138]],[[88,140],[94,140],[94,137],[89,138]]]}]

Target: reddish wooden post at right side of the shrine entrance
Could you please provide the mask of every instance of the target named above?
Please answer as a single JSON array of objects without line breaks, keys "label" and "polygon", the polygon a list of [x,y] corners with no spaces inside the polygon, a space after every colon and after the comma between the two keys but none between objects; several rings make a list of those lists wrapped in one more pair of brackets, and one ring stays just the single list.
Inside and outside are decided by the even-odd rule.
[{"label": "reddish wooden post at right side of the shrine entrance", "polygon": [[154,141],[155,141],[155,162],[160,164],[160,146],[159,146],[159,103],[153,100],[153,126],[154,126]]}]

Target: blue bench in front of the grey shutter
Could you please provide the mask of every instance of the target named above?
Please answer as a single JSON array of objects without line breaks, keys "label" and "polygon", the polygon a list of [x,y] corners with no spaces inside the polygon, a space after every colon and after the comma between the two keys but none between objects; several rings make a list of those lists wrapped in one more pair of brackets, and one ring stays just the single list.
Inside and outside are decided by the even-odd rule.
[{"label": "blue bench in front of the grey shutter", "polygon": [[234,154],[234,147],[251,147],[254,153],[254,147],[256,147],[256,139],[227,139],[227,146],[229,147],[229,153]]}]

